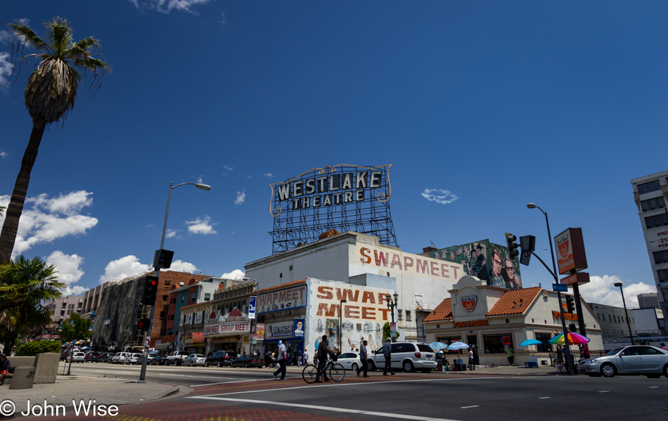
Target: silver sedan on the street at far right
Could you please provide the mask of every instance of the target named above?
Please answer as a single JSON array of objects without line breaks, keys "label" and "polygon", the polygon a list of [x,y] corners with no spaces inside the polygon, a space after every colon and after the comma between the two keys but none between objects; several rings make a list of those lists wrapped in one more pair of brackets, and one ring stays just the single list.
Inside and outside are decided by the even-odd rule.
[{"label": "silver sedan on the street at far right", "polygon": [[578,372],[589,377],[646,375],[668,377],[668,351],[655,346],[632,345],[614,349],[605,356],[589,358],[578,365]]}]

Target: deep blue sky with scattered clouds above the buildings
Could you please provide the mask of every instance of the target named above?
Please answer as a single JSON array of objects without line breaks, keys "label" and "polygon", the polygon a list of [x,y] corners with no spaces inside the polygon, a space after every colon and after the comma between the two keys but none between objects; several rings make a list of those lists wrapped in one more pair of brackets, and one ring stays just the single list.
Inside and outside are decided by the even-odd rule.
[{"label": "deep blue sky with scattered clouds above the buildings", "polygon": [[[13,1],[101,40],[113,74],[42,140],[15,252],[71,292],[148,269],[221,276],[271,254],[270,183],[313,167],[392,164],[405,252],[582,227],[589,301],[655,292],[630,180],[667,169],[662,2]],[[0,32],[0,82],[11,72]],[[30,64],[30,63],[29,63]],[[30,136],[29,72],[0,90],[0,204]],[[420,193],[444,190],[439,203]],[[538,261],[525,286],[551,278]],[[634,300],[634,299],[633,299]]]}]

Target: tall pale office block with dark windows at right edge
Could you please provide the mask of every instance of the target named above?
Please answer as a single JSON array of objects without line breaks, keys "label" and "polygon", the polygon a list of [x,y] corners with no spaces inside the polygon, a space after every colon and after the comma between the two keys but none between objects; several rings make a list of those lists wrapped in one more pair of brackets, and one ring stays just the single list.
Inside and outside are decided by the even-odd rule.
[{"label": "tall pale office block with dark windows at right edge", "polygon": [[659,306],[668,312],[668,171],[631,180]]}]

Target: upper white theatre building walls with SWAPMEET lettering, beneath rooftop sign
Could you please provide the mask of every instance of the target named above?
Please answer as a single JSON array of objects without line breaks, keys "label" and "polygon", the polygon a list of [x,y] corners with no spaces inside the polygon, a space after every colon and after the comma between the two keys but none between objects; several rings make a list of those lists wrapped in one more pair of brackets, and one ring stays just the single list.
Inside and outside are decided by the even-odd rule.
[{"label": "upper white theatre building walls with SWAPMEET lettering, beneath rooftop sign", "polygon": [[448,290],[465,275],[456,262],[405,253],[380,245],[376,237],[352,231],[252,261],[245,271],[263,289],[306,278],[354,285],[371,278],[391,278],[392,289],[399,294],[397,328],[407,340],[418,340],[423,331],[421,320],[449,297]]}]

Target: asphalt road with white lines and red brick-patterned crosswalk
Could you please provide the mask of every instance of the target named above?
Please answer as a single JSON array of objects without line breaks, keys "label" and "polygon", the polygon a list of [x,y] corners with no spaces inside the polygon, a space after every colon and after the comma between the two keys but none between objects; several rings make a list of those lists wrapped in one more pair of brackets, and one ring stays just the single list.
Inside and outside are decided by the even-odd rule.
[{"label": "asphalt road with white lines and red brick-patterned crosswalk", "polygon": [[[136,380],[139,367],[72,365],[74,374]],[[153,420],[638,420],[668,419],[668,379],[586,376],[454,376],[432,373],[309,385],[299,373],[274,381],[269,369],[150,367],[147,380],[193,389],[128,415]],[[134,412],[132,412],[134,411]],[[196,415],[195,415],[196,414]]]}]

